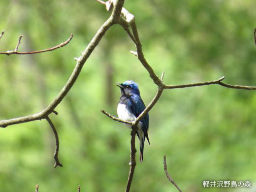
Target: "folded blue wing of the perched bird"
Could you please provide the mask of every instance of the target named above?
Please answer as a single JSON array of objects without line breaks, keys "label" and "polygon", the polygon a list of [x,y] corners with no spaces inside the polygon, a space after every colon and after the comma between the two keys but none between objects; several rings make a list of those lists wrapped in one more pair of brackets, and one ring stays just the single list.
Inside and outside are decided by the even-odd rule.
[{"label": "folded blue wing of the perched bird", "polygon": [[[130,109],[131,112],[135,115],[135,117],[137,118],[146,108],[145,104],[143,102],[143,100],[141,99],[140,96],[136,96],[136,95],[132,95],[130,96]],[[149,114],[145,115],[140,122],[142,122],[143,126],[142,126],[142,130],[149,142],[149,138],[148,138],[148,128],[149,128]]]}]

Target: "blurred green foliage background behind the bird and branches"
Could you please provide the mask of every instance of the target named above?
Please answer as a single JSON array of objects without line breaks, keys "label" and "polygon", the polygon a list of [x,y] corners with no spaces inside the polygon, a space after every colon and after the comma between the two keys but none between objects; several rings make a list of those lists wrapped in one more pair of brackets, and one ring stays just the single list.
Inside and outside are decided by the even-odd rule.
[{"label": "blurred green foliage background behind the bird and branches", "polygon": [[[146,59],[166,84],[215,80],[256,86],[255,0],[126,0],[135,15]],[[74,37],[64,48],[37,55],[0,55],[0,119],[31,115],[60,92],[79,57],[110,15],[94,0],[1,0],[0,50],[41,50]],[[0,192],[121,192],[129,171],[130,132],[100,112],[116,115],[116,82],[132,79],[148,104],[157,87],[115,25],[84,65],[76,83],[45,120],[0,129]],[[166,90],[150,111],[151,146],[137,164],[132,192],[255,192],[256,92],[218,85]],[[138,149],[138,142],[136,140]],[[137,160],[138,160],[138,153]],[[203,181],[251,181],[252,188],[203,188]]]}]

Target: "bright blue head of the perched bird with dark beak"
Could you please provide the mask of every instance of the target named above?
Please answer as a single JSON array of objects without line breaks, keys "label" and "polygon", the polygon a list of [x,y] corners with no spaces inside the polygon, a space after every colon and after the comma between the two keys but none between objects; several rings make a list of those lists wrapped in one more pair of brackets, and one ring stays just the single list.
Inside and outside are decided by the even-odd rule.
[{"label": "bright blue head of the perched bird with dark beak", "polygon": [[116,85],[120,87],[121,95],[127,95],[127,96],[140,95],[139,87],[137,83],[135,83],[134,81],[128,80],[128,81],[125,81],[124,83],[117,83]]}]

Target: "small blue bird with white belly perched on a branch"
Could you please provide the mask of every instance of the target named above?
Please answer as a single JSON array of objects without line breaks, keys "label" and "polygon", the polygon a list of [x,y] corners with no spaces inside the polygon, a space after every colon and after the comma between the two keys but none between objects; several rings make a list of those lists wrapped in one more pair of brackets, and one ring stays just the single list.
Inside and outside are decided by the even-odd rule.
[{"label": "small blue bird with white belly perched on a branch", "polygon": [[[125,121],[134,121],[144,111],[145,104],[140,97],[140,91],[137,83],[132,80],[124,83],[116,83],[121,90],[121,97],[117,107],[118,118]],[[129,128],[131,125],[126,124]],[[149,114],[147,113],[138,123],[138,130],[136,132],[140,143],[140,162],[143,160],[143,150],[145,138],[148,143],[148,129],[149,129]]]}]

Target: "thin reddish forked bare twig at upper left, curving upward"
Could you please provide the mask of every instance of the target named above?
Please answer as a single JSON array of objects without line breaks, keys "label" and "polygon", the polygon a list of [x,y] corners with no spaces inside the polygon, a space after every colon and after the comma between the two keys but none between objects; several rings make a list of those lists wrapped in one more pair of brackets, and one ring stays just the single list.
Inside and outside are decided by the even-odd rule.
[{"label": "thin reddish forked bare twig at upper left, curving upward", "polygon": [[12,54],[18,54],[18,55],[26,55],[26,54],[35,54],[35,53],[43,53],[43,52],[47,52],[47,51],[53,51],[55,49],[58,49],[58,48],[61,48],[61,47],[64,47],[65,45],[67,45],[69,43],[69,41],[72,39],[73,37],[73,33],[71,33],[70,37],[64,41],[63,43],[55,46],[55,47],[52,47],[52,48],[49,48],[49,49],[44,49],[44,50],[41,50],[41,51],[31,51],[31,52],[18,52],[18,47],[20,45],[20,41],[21,41],[21,38],[22,38],[22,35],[20,35],[19,37],[19,40],[18,40],[18,44],[16,46],[16,48],[12,51],[6,51],[6,52],[0,52],[0,54],[5,54],[5,55],[12,55]]}]

